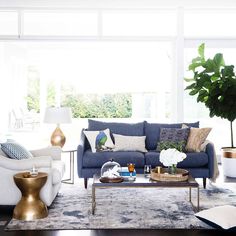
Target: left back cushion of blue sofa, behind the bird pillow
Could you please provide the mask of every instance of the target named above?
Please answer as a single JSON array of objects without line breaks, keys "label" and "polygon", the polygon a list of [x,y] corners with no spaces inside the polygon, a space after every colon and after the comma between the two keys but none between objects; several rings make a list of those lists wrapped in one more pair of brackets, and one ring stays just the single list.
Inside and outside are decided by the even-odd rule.
[{"label": "left back cushion of blue sofa, behind the bird pillow", "polygon": [[144,122],[140,123],[119,123],[119,122],[102,122],[97,120],[88,120],[88,130],[110,129],[111,133],[144,136]]}]

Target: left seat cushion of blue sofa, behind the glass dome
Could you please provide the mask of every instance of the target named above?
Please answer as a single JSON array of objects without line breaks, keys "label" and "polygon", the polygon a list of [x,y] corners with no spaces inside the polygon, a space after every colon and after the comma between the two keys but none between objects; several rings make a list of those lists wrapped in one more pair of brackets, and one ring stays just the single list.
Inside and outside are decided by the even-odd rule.
[{"label": "left seat cushion of blue sofa, behind the glass dome", "polygon": [[101,168],[102,165],[113,159],[121,166],[127,166],[127,163],[132,162],[135,167],[144,166],[144,155],[141,152],[96,152],[92,153],[91,150],[87,150],[83,156],[83,167],[85,168]]}]

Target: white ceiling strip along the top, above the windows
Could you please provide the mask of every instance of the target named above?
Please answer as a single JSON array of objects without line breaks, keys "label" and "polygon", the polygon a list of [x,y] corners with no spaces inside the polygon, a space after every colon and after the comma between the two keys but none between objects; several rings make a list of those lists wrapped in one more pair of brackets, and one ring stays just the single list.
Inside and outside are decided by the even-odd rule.
[{"label": "white ceiling strip along the top, above the windows", "polygon": [[0,7],[52,8],[152,8],[152,7],[235,7],[235,0],[0,0]]}]

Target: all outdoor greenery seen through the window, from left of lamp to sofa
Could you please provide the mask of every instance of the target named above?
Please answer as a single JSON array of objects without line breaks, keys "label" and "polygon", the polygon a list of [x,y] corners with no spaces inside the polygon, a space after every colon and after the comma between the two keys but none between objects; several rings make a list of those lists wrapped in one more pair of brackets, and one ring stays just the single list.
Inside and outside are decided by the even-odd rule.
[{"label": "all outdoor greenery seen through the window, from left of lamp to sofa", "polygon": [[[40,112],[40,77],[37,69],[29,68],[27,107]],[[78,94],[73,87],[62,85],[61,106],[71,107],[74,118],[129,118],[132,115],[130,93]],[[47,106],[55,106],[56,89],[53,82],[47,86]]]}]

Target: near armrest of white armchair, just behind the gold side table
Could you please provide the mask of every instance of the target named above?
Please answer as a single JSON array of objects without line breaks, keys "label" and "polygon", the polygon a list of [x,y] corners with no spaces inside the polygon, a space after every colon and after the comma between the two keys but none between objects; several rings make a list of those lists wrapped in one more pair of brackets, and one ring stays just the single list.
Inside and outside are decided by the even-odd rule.
[{"label": "near armrest of white armchair, just behind the gold side table", "polygon": [[25,171],[32,169],[33,166],[35,166],[36,168],[51,167],[52,158],[50,156],[41,156],[23,160],[16,160],[0,156],[0,167],[5,169]]}]

